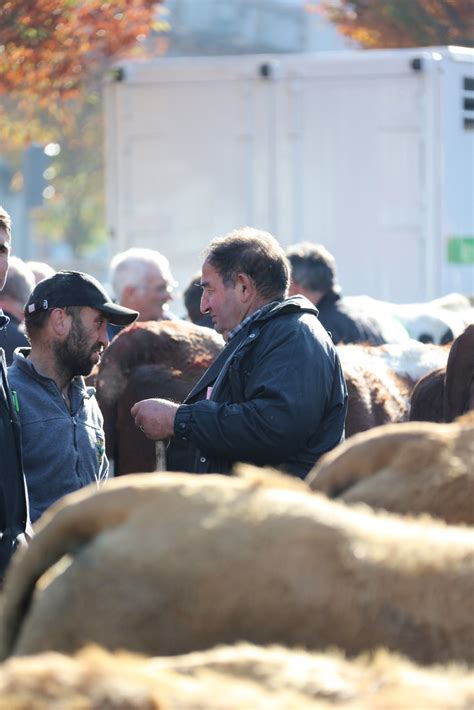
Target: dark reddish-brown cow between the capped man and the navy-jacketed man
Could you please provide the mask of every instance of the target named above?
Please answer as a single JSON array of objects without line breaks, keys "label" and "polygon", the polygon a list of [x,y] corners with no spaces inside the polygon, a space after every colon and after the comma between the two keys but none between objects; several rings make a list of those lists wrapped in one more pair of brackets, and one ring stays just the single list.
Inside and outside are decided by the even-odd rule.
[{"label": "dark reddish-brown cow between the capped man and the navy-jacketed man", "polygon": [[96,387],[115,475],[164,468],[162,445],[135,427],[130,409],[149,397],[181,402],[223,346],[215,331],[180,320],[134,323],[112,340]]}]

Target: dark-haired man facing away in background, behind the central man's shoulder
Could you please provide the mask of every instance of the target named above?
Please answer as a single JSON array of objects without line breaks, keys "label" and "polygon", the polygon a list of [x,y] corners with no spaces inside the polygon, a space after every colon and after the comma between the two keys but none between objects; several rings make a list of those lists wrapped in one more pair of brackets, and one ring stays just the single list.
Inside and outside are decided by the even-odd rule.
[{"label": "dark-haired man facing away in background, behind the central man's shoulder", "polygon": [[383,345],[383,324],[376,314],[341,297],[336,281],[336,262],[321,244],[302,242],[287,249],[291,265],[290,294],[306,296],[319,311],[319,320],[333,343]]}]

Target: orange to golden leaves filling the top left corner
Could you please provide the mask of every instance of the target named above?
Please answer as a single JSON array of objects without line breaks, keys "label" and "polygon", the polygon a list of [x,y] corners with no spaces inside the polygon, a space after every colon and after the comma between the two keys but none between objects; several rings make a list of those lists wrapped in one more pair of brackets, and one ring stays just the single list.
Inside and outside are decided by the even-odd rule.
[{"label": "orange to golden leaves filling the top left corner", "polygon": [[0,0],[0,141],[75,133],[108,61],[140,47],[162,0]]}]

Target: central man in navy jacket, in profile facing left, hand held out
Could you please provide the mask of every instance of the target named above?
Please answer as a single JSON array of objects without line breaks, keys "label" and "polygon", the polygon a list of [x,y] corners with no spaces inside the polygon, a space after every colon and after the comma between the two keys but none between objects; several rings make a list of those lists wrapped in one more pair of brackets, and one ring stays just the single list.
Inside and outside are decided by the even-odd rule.
[{"label": "central man in navy jacket, in profile facing left, hand held out", "polygon": [[182,405],[149,399],[132,408],[149,438],[192,444],[189,470],[228,473],[247,461],[304,478],[343,439],[347,390],[336,350],[316,308],[286,298],[288,282],[270,234],[245,228],[211,243],[201,310],[226,347]]}]

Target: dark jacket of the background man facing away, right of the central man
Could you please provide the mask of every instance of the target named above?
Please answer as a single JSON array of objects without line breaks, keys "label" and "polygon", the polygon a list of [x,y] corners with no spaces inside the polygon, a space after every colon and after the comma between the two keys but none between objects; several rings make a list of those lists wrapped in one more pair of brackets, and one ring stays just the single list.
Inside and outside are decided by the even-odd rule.
[{"label": "dark jacket of the background man facing away, right of the central man", "polygon": [[326,293],[317,305],[319,320],[331,333],[333,343],[383,345],[382,328],[373,314],[349,304],[337,293]]}]

